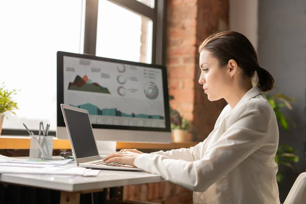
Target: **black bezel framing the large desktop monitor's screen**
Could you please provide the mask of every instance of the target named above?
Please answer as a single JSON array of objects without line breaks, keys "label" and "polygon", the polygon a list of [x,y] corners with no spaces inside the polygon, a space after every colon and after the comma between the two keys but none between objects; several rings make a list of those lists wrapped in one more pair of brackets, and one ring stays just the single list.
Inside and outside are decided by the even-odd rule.
[{"label": "black bezel framing the large desktop monitor's screen", "polygon": [[118,59],[111,59],[105,57],[98,57],[87,54],[76,54],[68,52],[57,52],[57,126],[66,127],[64,118],[61,111],[61,104],[64,104],[64,57],[75,57],[89,60],[98,60],[114,63],[122,63],[127,65],[143,66],[148,68],[157,68],[162,70],[163,92],[164,92],[164,108],[165,108],[165,127],[139,127],[139,126],[121,126],[121,125],[107,125],[107,124],[92,124],[93,129],[110,129],[110,130],[133,130],[133,131],[150,131],[150,132],[169,132],[171,133],[170,126],[170,106],[169,106],[169,93],[167,70],[163,65],[146,64],[140,62],[132,62]]}]

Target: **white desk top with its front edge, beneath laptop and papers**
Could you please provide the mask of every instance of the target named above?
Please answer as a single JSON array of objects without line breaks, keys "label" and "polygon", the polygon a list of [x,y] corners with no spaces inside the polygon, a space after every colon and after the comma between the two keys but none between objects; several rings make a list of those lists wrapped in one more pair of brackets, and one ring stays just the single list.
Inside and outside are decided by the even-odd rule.
[{"label": "white desk top with its front edge, beneath laptop and papers", "polygon": [[[75,164],[67,164],[74,166]],[[145,171],[100,170],[97,176],[56,176],[0,174],[0,182],[68,192],[95,191],[103,188],[165,181],[160,175]]]}]

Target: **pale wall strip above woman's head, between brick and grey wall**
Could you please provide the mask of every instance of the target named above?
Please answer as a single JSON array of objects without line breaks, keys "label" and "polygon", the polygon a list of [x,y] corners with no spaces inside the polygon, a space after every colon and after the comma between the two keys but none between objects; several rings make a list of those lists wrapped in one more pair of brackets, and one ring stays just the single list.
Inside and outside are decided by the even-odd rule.
[{"label": "pale wall strip above woman's head, between brick and grey wall", "polygon": [[258,50],[258,0],[230,0],[230,30],[245,35]]}]

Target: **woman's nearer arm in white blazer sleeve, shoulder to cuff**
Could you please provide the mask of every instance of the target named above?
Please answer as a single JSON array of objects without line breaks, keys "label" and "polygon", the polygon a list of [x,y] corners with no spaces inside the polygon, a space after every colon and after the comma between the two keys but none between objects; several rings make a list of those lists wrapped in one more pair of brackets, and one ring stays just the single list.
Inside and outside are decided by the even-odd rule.
[{"label": "woman's nearer arm in white blazer sleeve, shoulder to cuff", "polygon": [[143,154],[136,157],[134,165],[192,191],[203,192],[264,142],[268,131],[267,115],[259,111],[246,112],[242,112],[220,139],[206,149],[201,160],[187,162]]}]

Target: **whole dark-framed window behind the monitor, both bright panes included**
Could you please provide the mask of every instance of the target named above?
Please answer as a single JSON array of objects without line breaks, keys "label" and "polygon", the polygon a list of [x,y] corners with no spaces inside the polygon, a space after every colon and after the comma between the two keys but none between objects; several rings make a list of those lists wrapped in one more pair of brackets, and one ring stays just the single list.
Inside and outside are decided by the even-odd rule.
[{"label": "whole dark-framed window behind the monitor, both bright panes included", "polygon": [[2,135],[27,135],[22,123],[38,130],[40,120],[55,135],[58,50],[164,64],[164,16],[164,0],[0,2],[0,83],[20,89]]}]

